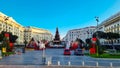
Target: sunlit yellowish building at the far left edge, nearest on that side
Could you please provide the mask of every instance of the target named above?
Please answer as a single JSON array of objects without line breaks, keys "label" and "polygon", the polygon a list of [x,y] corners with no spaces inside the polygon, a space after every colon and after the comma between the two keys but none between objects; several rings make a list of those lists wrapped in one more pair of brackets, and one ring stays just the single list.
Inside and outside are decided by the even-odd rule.
[{"label": "sunlit yellowish building at the far left edge, nearest on that side", "polygon": [[12,17],[9,17],[0,12],[0,33],[2,31],[11,32],[13,35],[17,35],[17,43],[23,43],[24,27],[17,23]]}]

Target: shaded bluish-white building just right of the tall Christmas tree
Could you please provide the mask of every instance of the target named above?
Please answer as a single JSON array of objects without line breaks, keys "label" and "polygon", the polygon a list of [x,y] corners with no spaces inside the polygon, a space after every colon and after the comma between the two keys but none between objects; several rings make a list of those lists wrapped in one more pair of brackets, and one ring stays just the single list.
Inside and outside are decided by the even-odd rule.
[{"label": "shaded bluish-white building just right of the tall Christmas tree", "polygon": [[95,28],[95,26],[90,26],[80,29],[69,30],[63,40],[75,41],[77,38],[79,38],[85,42],[87,38],[92,38]]}]

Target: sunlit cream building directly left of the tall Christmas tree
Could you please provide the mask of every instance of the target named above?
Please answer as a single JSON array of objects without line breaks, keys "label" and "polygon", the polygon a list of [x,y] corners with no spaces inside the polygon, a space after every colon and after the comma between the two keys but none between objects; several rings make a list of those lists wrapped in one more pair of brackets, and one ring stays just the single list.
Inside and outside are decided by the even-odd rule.
[{"label": "sunlit cream building directly left of the tall Christmas tree", "polygon": [[25,27],[25,34],[24,39],[29,42],[32,38],[34,38],[36,41],[40,40],[52,40],[52,34],[45,29],[40,29],[32,26]]}]

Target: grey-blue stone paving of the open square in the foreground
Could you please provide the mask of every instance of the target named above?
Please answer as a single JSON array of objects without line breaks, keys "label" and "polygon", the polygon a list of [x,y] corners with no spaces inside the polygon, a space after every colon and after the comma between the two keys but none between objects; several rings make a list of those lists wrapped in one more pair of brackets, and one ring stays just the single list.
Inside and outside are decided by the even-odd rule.
[{"label": "grey-blue stone paving of the open square in the foreground", "polygon": [[[26,51],[26,53],[22,54],[15,54],[7,57],[3,57],[2,60],[0,60],[0,67],[11,65],[11,66],[19,66],[22,68],[33,66],[35,68],[41,68],[46,67],[46,65],[42,64],[42,53],[43,51]],[[82,62],[84,61],[85,66],[97,66],[96,62],[98,62],[98,66],[107,66],[110,67],[110,63],[112,62],[112,66],[118,66],[120,67],[120,60],[114,60],[114,59],[95,59],[88,56],[75,56],[74,54],[70,56],[64,56],[63,55],[63,49],[46,49],[45,50],[45,56],[46,60],[51,61],[52,64],[49,66],[56,67],[58,65],[58,61],[60,61],[60,66],[68,66],[68,62],[71,62],[71,67],[81,67],[83,66]],[[10,66],[9,66],[10,67]],[[12,67],[13,68],[13,67]]]}]

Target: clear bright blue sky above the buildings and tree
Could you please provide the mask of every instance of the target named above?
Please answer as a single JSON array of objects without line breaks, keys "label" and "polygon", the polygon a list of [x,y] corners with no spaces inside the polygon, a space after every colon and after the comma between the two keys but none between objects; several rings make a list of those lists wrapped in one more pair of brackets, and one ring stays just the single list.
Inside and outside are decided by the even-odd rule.
[{"label": "clear bright blue sky above the buildings and tree", "polygon": [[[120,11],[120,0],[0,0],[0,11],[23,26],[50,30],[61,37],[70,29],[95,26]],[[99,22],[99,23],[100,23]]]}]

